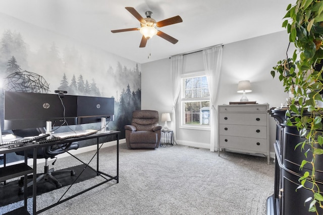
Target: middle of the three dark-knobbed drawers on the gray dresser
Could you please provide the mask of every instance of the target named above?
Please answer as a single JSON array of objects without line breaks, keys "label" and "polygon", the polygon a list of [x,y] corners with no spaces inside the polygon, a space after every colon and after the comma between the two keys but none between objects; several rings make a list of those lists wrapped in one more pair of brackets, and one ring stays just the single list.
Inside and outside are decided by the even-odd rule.
[{"label": "middle of the three dark-knobbed drawers on the gray dresser", "polygon": [[266,126],[220,124],[220,135],[267,138]]}]

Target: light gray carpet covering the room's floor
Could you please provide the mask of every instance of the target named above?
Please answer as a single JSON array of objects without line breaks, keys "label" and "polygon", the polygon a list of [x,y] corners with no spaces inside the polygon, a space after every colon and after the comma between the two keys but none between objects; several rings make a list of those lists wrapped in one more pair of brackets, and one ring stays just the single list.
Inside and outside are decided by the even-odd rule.
[{"label": "light gray carpet covering the room's floor", "polygon": [[[89,160],[93,153],[77,156]],[[79,164],[73,158],[62,158],[55,168]],[[263,157],[229,152],[221,152],[218,157],[217,152],[178,145],[129,150],[121,144],[119,165],[118,184],[105,183],[41,214],[263,215],[266,199],[274,192],[274,164],[267,165]],[[100,151],[100,168],[116,174],[116,147]],[[80,182],[68,194],[100,181],[98,176]],[[37,209],[56,202],[67,188],[37,196]],[[32,204],[31,199],[28,202]],[[0,211],[22,204],[6,205]]]}]

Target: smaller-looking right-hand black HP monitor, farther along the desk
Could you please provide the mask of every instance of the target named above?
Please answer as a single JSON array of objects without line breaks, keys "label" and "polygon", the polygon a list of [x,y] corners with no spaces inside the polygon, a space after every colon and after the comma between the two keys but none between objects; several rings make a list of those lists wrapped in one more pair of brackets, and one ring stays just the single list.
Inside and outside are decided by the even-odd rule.
[{"label": "smaller-looking right-hand black HP monitor, farther along the desk", "polygon": [[114,98],[91,96],[77,97],[78,124],[100,122],[101,118],[107,118],[107,120],[113,121],[114,113]]}]

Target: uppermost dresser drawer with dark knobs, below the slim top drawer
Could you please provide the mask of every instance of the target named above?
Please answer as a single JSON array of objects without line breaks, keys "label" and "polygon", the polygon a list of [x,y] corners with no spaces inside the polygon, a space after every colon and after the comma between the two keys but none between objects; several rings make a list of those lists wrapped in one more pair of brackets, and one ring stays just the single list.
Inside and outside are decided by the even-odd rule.
[{"label": "uppermost dresser drawer with dark knobs, below the slim top drawer", "polygon": [[236,124],[236,125],[262,125],[266,126],[265,113],[220,113],[220,124]]}]

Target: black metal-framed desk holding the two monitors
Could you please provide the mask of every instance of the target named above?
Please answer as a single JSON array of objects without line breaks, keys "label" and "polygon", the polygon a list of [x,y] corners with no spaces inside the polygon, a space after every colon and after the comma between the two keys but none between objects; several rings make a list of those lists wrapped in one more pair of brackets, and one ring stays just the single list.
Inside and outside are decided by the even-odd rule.
[{"label": "black metal-framed desk holding the two monitors", "polygon": [[[110,131],[110,132],[107,132],[107,133],[96,133],[96,134],[92,134],[92,135],[89,135],[89,136],[84,136],[84,137],[78,137],[78,138],[70,138],[70,139],[65,139],[65,140],[60,140],[60,141],[56,141],[56,142],[47,142],[45,144],[26,144],[25,146],[23,147],[18,147],[18,148],[13,148],[13,149],[5,149],[5,148],[0,148],[0,154],[8,154],[8,153],[12,153],[12,152],[18,152],[18,151],[26,151],[26,150],[31,150],[33,149],[33,168],[29,167],[27,165],[27,156],[25,155],[25,162],[24,163],[21,163],[21,164],[17,164],[17,165],[12,165],[12,166],[6,166],[6,167],[3,167],[3,168],[0,168],[0,181],[5,181],[5,180],[8,180],[10,178],[15,178],[15,177],[19,177],[19,176],[22,176],[22,175],[27,175],[27,174],[30,174],[30,173],[33,173],[33,214],[37,214],[37,213],[40,213],[40,212],[43,212],[53,206],[56,206],[58,204],[61,204],[71,198],[74,198],[75,196],[78,196],[84,192],[87,192],[97,186],[100,186],[106,182],[109,182],[111,180],[116,180],[117,183],[119,183],[119,134],[120,134],[120,131]],[[99,170],[99,150],[100,148],[102,147],[102,145],[100,146],[100,144],[103,144],[104,142],[106,142],[107,140],[107,137],[109,136],[116,136],[117,138],[117,174],[116,176],[112,176],[112,175],[109,175],[107,173],[104,173],[102,171]],[[89,166],[90,162],[92,161],[92,159],[89,161],[89,163],[84,163],[83,161],[81,161],[80,159],[78,159],[76,156],[74,155],[71,155],[69,152],[66,152],[66,153],[69,153],[72,157],[74,157],[75,159],[79,160],[81,163],[85,164],[88,168],[91,168],[92,170],[94,170],[96,172],[97,175],[104,175],[104,176],[107,176],[108,178],[105,178],[104,181],[90,187],[90,188],[87,188],[85,190],[82,190],[70,197],[67,197],[65,199],[61,199],[56,202],[56,203],[53,203],[45,208],[42,208],[38,211],[36,211],[36,191],[37,191],[37,186],[36,186],[36,177],[37,177],[37,159],[36,159],[36,155],[37,155],[37,149],[40,148],[40,147],[48,147],[48,146],[52,146],[52,145],[57,145],[57,144],[65,144],[65,143],[68,143],[68,142],[76,142],[76,141],[81,141],[81,140],[86,140],[86,139],[96,139],[96,145],[97,145],[97,148],[96,148],[96,169],[92,168]],[[25,177],[25,190],[27,190],[27,187],[26,187],[26,180],[27,180],[27,177]],[[25,203],[24,203],[24,207],[25,209],[27,208],[27,192],[25,192]],[[63,194],[64,195],[64,194]],[[26,209],[27,210],[27,209]]]}]

